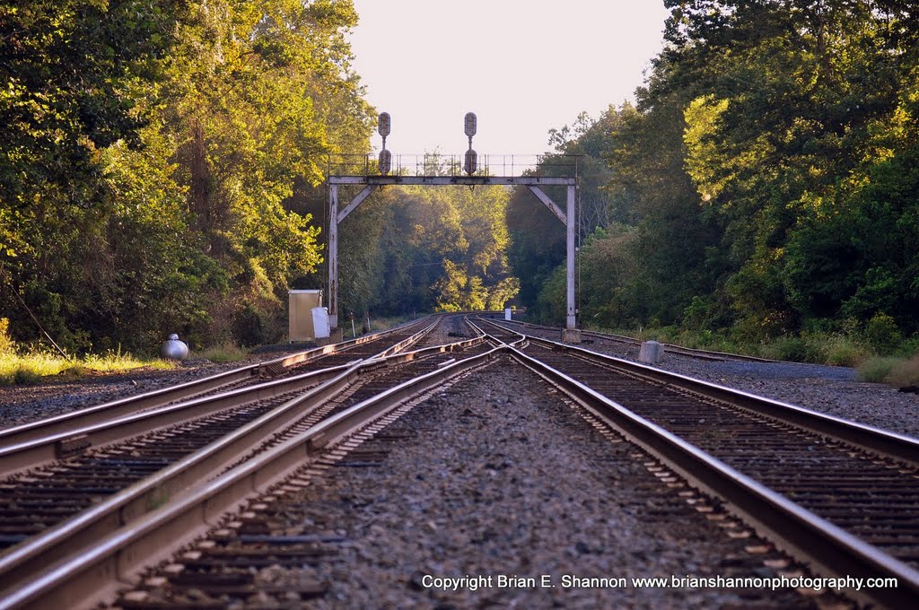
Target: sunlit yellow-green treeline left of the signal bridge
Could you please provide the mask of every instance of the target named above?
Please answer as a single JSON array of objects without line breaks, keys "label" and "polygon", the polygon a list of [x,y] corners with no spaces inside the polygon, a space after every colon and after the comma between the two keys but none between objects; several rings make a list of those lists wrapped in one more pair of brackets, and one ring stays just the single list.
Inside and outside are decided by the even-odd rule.
[{"label": "sunlit yellow-green treeline left of the signal bridge", "polygon": [[277,339],[295,181],[369,150],[349,0],[0,6],[0,317],[68,350]]}]

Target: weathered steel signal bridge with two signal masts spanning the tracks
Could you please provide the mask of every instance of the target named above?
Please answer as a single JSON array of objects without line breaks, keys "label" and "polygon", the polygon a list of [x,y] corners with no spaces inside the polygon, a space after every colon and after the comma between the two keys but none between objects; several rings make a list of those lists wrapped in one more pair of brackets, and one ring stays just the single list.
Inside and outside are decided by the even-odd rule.
[{"label": "weathered steel signal bridge with two signal masts spanning the tracks", "polygon": [[[380,115],[380,135],[383,150],[379,161],[370,155],[342,155],[329,160],[329,325],[338,328],[338,225],[357,209],[376,188],[382,186],[526,186],[539,198],[566,229],[566,320],[562,339],[580,342],[577,312],[574,305],[574,237],[577,200],[577,157],[573,155],[482,155],[472,150],[475,135],[475,115],[466,115],[466,135],[470,149],[465,155],[447,156],[439,153],[425,155],[392,155],[385,148],[391,119]],[[393,164],[394,160],[394,164]],[[498,175],[496,172],[500,171]],[[494,172],[494,173],[493,173]],[[357,195],[341,205],[339,189],[362,186]],[[563,187],[566,192],[562,208],[542,189],[543,186]]]}]

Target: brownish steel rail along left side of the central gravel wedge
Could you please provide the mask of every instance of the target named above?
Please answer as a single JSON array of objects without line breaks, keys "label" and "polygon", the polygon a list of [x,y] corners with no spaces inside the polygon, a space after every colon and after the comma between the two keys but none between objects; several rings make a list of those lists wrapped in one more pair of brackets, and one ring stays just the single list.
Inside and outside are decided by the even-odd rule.
[{"label": "brownish steel rail along left side of the central gravel wedge", "polygon": [[380,421],[405,401],[491,362],[507,347],[497,347],[362,401],[346,411],[272,447],[214,480],[174,498],[130,525],[120,527],[83,551],[61,559],[42,573],[0,594],[0,610],[25,607],[89,608],[135,578],[146,565],[165,559],[215,525],[222,514],[267,491],[297,469],[324,455],[350,435]]}]

